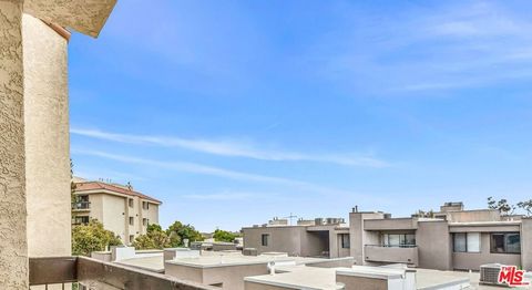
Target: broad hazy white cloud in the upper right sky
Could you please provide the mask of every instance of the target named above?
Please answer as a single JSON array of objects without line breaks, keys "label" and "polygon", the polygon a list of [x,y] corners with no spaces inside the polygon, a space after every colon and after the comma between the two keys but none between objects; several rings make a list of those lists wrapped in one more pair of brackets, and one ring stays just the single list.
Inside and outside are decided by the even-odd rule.
[{"label": "broad hazy white cloud in the upper right sky", "polygon": [[[528,49],[532,21],[511,4],[437,2],[407,4],[393,14],[377,11],[374,14],[356,3],[344,9],[344,21],[357,29],[331,31],[317,39],[303,54],[305,63],[350,91],[377,95],[532,79]],[[326,53],[330,55],[324,58]]]}]

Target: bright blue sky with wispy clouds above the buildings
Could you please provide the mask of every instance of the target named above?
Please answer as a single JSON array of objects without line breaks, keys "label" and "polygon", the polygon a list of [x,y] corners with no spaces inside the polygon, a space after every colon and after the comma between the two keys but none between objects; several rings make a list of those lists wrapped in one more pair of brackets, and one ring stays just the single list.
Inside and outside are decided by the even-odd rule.
[{"label": "bright blue sky with wispy clouds above the buildings", "polygon": [[119,1],[70,43],[74,172],[205,231],[528,199],[531,9]]}]

